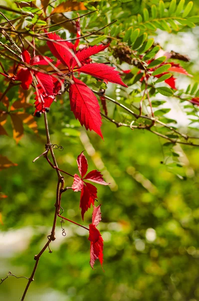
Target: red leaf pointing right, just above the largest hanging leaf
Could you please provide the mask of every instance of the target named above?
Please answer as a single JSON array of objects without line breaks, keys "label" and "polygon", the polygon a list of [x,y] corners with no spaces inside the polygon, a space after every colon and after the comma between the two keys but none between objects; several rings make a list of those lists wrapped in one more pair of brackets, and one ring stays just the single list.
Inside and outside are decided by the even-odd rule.
[{"label": "red leaf pointing right, just above the largest hanging leaf", "polygon": [[105,64],[93,63],[93,64],[84,65],[81,68],[79,68],[78,71],[107,80],[111,83],[128,87],[122,82],[119,76],[119,72],[115,70],[114,67],[110,67]]}]

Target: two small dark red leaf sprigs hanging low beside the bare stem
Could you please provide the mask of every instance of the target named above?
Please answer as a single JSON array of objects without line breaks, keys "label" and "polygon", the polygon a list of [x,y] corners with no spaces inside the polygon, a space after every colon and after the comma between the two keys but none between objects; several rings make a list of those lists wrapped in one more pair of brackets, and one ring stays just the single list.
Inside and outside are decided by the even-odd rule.
[{"label": "two small dark red leaf sprigs hanging low beside the bare stem", "polygon": [[103,180],[102,174],[97,170],[93,170],[86,175],[88,170],[88,162],[83,152],[77,157],[77,165],[81,178],[77,174],[74,175],[72,189],[74,191],[81,191],[80,208],[83,220],[85,212],[91,207],[91,204],[93,205],[92,224],[89,225],[88,237],[91,242],[90,265],[93,268],[96,259],[99,259],[101,265],[103,262],[103,239],[99,230],[96,228],[101,221],[101,205],[95,207],[94,202],[97,198],[97,188],[94,185],[85,182],[85,180],[101,185],[108,185],[108,183]]}]

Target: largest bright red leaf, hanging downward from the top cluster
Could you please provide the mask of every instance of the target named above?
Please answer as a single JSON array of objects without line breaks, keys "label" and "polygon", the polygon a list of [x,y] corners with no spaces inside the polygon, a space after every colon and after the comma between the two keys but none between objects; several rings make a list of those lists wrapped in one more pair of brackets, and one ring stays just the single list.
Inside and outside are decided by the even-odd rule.
[{"label": "largest bright red leaf, hanging downward from the top cluster", "polygon": [[80,121],[81,125],[84,124],[87,130],[94,130],[103,138],[100,129],[102,118],[96,96],[81,80],[75,77],[73,80],[75,83],[70,85],[69,98],[75,118]]}]

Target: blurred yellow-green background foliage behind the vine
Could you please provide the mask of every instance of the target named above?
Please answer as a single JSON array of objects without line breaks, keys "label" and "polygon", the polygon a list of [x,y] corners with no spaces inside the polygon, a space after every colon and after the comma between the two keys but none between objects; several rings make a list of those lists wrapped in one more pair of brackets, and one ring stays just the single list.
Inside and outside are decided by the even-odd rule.
[{"label": "blurred yellow-green background foliage behind the vine", "polygon": [[[117,19],[115,29],[119,27],[118,34],[124,36],[129,18],[144,8],[150,11],[159,1],[85,3],[90,10],[99,9],[99,14],[84,19],[83,33]],[[14,3],[12,6],[16,9]],[[165,2],[165,7],[169,7],[169,2]],[[195,2],[191,16],[197,15],[198,9]],[[70,14],[76,17],[76,13]],[[8,18],[13,18],[12,12],[8,12]],[[190,28],[183,31],[192,33]],[[68,31],[63,31],[66,34]],[[71,33],[71,37],[74,35]],[[158,35],[164,33],[159,31]],[[88,42],[92,40],[89,38]],[[198,55],[199,50],[196,51]],[[187,70],[197,79],[198,70],[192,67],[190,63]],[[85,80],[89,81],[89,76]],[[2,92],[6,84],[1,77]],[[12,103],[18,99],[18,88],[8,94]],[[115,97],[117,93],[109,89],[109,95]],[[108,109],[117,115],[110,103]],[[26,111],[33,110],[29,107]],[[105,119],[103,141],[94,132],[87,133],[79,127],[70,111],[68,95],[64,101],[58,99],[52,104],[48,119],[52,142],[64,148],[63,152],[55,150],[61,169],[77,173],[76,158],[86,149],[89,170],[99,168],[107,179],[112,177],[110,187],[97,187],[98,202],[102,204],[99,229],[104,239],[105,273],[99,262],[96,270],[89,265],[88,233],[66,222],[63,227],[67,235],[63,237],[58,219],[57,239],[50,245],[53,253],[46,250],[42,255],[27,301],[199,300],[198,148],[172,148],[148,131],[116,128]],[[2,156],[18,164],[0,172],[0,187],[8,196],[0,199],[1,278],[9,270],[29,277],[34,255],[44,246],[52,227],[57,175],[43,158],[32,162],[45,150],[46,143],[43,118],[37,121],[38,134],[25,124],[25,135],[18,145],[12,138],[11,124],[6,124],[10,136],[1,136]],[[197,127],[189,130],[190,134],[198,136]],[[182,130],[188,129],[184,125]],[[169,166],[173,157],[174,167]],[[66,176],[65,181],[66,186],[72,185],[70,177]],[[67,218],[81,223],[79,197],[79,193],[68,190],[62,196],[62,206]],[[85,225],[90,223],[90,217],[91,210],[85,214]],[[24,278],[9,277],[0,286],[0,299],[19,299],[26,283]]]}]

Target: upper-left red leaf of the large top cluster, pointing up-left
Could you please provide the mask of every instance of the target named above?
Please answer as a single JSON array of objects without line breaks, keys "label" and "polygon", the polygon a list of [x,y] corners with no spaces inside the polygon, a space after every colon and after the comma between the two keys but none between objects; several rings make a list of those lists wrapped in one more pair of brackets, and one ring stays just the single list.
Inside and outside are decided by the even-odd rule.
[{"label": "upper-left red leaf of the large top cluster, pointing up-left", "polygon": [[[46,31],[45,31],[46,32]],[[48,34],[48,38],[52,39],[52,40],[63,40],[62,38],[60,38],[57,34]],[[57,44],[58,43],[58,44]],[[70,69],[70,61],[73,58],[71,51],[69,51],[69,44],[68,42],[64,41],[64,42],[51,42],[48,41],[47,45],[50,48],[50,51],[52,52],[52,54],[58,59],[60,60],[60,62],[62,62],[62,64],[66,65],[69,69]]]}]

